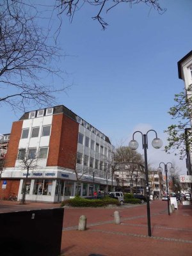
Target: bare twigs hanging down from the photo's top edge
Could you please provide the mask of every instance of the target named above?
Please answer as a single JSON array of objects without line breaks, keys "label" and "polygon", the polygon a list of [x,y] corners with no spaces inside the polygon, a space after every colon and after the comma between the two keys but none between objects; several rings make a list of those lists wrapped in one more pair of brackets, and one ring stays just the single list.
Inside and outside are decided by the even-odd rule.
[{"label": "bare twigs hanging down from the photo's top edge", "polygon": [[129,7],[132,8],[134,4],[139,3],[147,4],[150,10],[154,8],[159,13],[164,13],[166,10],[160,6],[159,0],[56,0],[55,8],[58,10],[59,15],[66,13],[72,21],[75,13],[83,8],[85,4],[89,4],[97,10],[96,15],[92,19],[97,20],[102,29],[106,29],[108,23],[102,17],[103,13],[108,13],[119,4],[129,4]]}]

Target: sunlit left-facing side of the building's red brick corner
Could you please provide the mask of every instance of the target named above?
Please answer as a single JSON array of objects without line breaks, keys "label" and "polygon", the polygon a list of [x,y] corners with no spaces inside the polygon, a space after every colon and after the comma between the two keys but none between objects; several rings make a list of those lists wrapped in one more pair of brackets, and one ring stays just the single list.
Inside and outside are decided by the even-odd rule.
[{"label": "sunlit left-facing side of the building's red brick corner", "polygon": [[63,114],[52,116],[52,127],[49,141],[49,154],[47,157],[47,166],[58,166],[62,120]]}]

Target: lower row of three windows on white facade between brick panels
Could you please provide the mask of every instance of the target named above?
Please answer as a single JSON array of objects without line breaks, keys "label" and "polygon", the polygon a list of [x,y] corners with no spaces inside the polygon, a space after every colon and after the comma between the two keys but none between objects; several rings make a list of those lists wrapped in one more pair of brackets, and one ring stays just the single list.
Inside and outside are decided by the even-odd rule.
[{"label": "lower row of three windows on white facade between brick panels", "polygon": [[38,152],[36,148],[21,148],[18,151],[17,159],[24,160],[24,159],[47,159],[47,152],[48,147],[39,148]]}]

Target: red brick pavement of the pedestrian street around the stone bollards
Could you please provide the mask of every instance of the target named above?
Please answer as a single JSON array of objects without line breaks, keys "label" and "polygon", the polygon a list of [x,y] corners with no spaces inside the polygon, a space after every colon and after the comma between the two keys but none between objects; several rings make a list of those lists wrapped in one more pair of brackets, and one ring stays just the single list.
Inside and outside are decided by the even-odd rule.
[{"label": "red brick pavement of the pedestrian street around the stone bollards", "polygon": [[[50,209],[60,204],[0,202],[0,212]],[[121,224],[114,223],[114,212]],[[86,231],[78,231],[79,217],[87,218]],[[147,207],[124,205],[106,208],[65,208],[62,256],[187,256],[192,255],[192,205],[179,205],[168,216],[167,202],[150,204],[152,237],[148,237]]]}]

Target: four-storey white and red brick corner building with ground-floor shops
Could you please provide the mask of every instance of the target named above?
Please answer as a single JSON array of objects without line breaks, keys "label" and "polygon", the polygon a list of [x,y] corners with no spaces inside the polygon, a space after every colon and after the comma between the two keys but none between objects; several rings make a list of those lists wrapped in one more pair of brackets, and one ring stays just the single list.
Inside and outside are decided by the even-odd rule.
[{"label": "four-storey white and red brick corner building with ground-floor shops", "polygon": [[[24,181],[26,200],[60,202],[77,190],[81,196],[93,195],[111,184],[114,151],[105,134],[65,106],[24,113],[12,125],[2,173],[4,195],[14,193],[20,200]],[[28,172],[26,154],[35,159]]]}]

